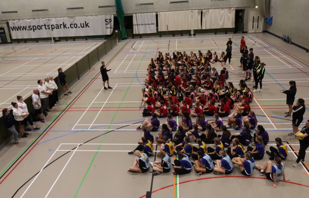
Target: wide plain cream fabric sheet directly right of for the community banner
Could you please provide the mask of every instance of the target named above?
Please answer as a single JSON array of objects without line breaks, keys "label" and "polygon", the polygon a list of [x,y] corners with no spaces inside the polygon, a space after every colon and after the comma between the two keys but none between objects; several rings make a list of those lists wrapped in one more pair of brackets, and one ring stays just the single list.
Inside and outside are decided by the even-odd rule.
[{"label": "wide plain cream fabric sheet directly right of for the community banner", "polygon": [[200,30],[201,11],[183,10],[158,12],[159,31]]}]

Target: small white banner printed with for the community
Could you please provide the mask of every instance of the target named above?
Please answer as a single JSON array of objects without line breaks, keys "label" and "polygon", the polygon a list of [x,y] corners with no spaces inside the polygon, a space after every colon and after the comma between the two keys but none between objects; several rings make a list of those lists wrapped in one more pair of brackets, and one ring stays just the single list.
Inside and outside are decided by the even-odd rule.
[{"label": "small white banner printed with for the community", "polygon": [[155,12],[133,14],[133,34],[156,33]]}]

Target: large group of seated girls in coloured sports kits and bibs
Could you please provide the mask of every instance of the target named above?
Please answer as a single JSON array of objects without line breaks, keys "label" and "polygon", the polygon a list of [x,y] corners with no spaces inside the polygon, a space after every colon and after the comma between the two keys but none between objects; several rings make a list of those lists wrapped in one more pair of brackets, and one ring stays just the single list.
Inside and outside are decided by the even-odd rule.
[{"label": "large group of seated girls in coloured sports kits and bibs", "polygon": [[[282,176],[288,180],[281,162],[288,152],[280,138],[275,140],[277,148],[270,147],[270,151],[266,151],[275,165],[271,161],[264,166],[255,164],[255,160],[264,157],[269,136],[262,125],[257,125],[256,115],[250,109],[253,94],[244,80],[240,80],[239,89],[232,82],[226,84],[228,71],[223,67],[219,74],[210,66],[210,63],[218,61],[216,53],[212,58],[208,50],[206,54],[198,51],[198,56],[193,52],[190,55],[176,52],[172,55],[165,53],[163,57],[159,52],[155,61],[150,60],[140,107],[145,107],[144,117],[152,118],[146,118],[137,127],[143,133],[138,147],[129,152],[136,158],[128,172],[147,172],[151,166],[153,175],[169,172],[171,167],[174,175],[189,173],[192,168],[198,176],[210,172],[230,174],[233,164],[236,164],[246,176],[252,175],[254,168],[261,175],[265,172],[267,178],[274,181],[274,187]],[[217,102],[219,104],[216,105]],[[181,116],[178,123],[174,119],[176,116]],[[208,122],[205,116],[213,116],[214,120]],[[154,138],[151,132],[159,130],[159,118],[162,117],[166,117],[167,121]],[[192,117],[196,117],[195,122]],[[226,126],[221,117],[227,117]],[[231,134],[227,130],[230,127],[241,132]],[[253,129],[256,130],[254,134]],[[221,131],[222,135],[219,135]],[[198,147],[193,146],[191,140]],[[157,157],[161,160],[150,162],[154,141],[160,146]],[[215,148],[206,144],[215,144]],[[247,151],[244,146],[247,146]],[[171,163],[174,155],[177,159]]]}]

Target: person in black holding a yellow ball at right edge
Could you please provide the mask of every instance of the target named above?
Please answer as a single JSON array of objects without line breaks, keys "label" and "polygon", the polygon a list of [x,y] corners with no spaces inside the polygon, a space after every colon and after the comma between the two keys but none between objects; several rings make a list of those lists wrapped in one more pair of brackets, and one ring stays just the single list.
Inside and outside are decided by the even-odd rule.
[{"label": "person in black holding a yellow ball at right edge", "polygon": [[299,140],[300,148],[298,151],[297,160],[293,165],[294,167],[297,167],[299,162],[305,163],[306,149],[309,147],[309,120],[306,121],[305,126],[299,132],[303,133],[303,135],[296,135],[296,133],[295,137],[303,138],[303,140]]}]

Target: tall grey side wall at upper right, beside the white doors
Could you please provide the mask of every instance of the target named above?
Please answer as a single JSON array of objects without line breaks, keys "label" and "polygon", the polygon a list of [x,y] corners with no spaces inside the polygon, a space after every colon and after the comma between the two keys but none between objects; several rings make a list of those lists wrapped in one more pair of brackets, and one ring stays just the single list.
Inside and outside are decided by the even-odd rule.
[{"label": "tall grey side wall at upper right, beside the white doors", "polygon": [[273,24],[267,25],[266,30],[277,36],[289,35],[293,43],[309,49],[308,7],[308,0],[271,0]]}]

